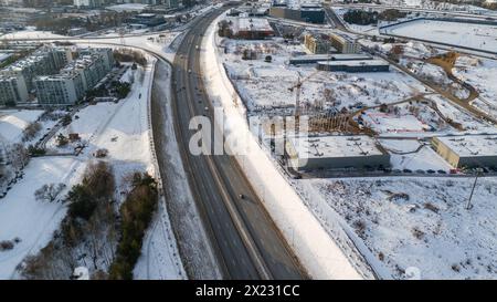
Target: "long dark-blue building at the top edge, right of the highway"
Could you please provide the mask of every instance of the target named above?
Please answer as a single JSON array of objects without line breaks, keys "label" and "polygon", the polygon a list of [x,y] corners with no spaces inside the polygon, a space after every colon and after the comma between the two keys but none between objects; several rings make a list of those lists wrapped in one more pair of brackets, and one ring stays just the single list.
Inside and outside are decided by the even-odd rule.
[{"label": "long dark-blue building at the top edge, right of the highway", "polygon": [[318,3],[303,3],[300,6],[289,7],[286,1],[275,0],[269,8],[269,15],[308,23],[325,23],[325,10]]}]

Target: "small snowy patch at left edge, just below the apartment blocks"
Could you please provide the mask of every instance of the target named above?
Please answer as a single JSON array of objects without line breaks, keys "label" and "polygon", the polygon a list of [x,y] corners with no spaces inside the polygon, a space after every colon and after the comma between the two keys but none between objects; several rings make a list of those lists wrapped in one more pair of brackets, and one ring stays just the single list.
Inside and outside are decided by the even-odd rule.
[{"label": "small snowy patch at left edge, just below the apartment blocks", "polygon": [[39,110],[0,111],[0,142],[10,144],[21,142],[25,127],[42,114],[43,111]]}]

